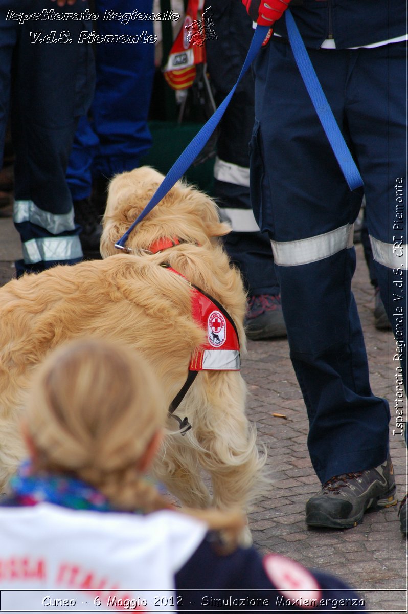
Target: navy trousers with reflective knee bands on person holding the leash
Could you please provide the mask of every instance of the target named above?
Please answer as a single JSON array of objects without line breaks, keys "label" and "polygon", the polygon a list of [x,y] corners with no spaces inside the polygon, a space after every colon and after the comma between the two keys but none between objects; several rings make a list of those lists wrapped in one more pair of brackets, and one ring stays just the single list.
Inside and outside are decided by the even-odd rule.
[{"label": "navy trousers with reflective knee bands on person holding the leash", "polygon": [[[309,55],[364,180],[377,278],[398,347],[398,340],[406,343],[408,315],[406,44],[309,49]],[[356,259],[350,225],[362,191],[348,190],[283,39],[261,49],[255,84],[252,203],[272,239],[291,360],[309,416],[310,458],[324,483],[376,467],[388,451],[388,403],[371,391],[351,291]],[[402,358],[395,362],[400,376],[402,349],[395,352]],[[391,420],[396,424],[394,408]],[[394,436],[401,437],[401,429]]]}]

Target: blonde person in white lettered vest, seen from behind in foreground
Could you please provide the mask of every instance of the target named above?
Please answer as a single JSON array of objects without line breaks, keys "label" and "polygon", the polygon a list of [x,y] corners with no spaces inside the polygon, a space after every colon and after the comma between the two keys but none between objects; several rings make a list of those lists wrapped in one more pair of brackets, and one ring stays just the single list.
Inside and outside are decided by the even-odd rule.
[{"label": "blonde person in white lettered vest, seen from behind in foreground", "polygon": [[166,413],[131,349],[81,340],[48,356],[23,421],[30,461],[0,506],[2,607],[364,609],[325,573],[237,547],[239,513],[168,502],[145,477]]}]

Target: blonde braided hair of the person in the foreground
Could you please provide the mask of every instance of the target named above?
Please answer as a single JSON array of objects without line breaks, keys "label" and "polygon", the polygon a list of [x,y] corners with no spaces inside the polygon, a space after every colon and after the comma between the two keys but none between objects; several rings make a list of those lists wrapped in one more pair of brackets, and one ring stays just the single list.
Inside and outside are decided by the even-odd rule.
[{"label": "blonde braided hair of the person in the foreground", "polygon": [[138,463],[166,413],[142,357],[104,341],[69,343],[45,360],[28,402],[36,468],[74,473],[117,507],[157,508]]}]

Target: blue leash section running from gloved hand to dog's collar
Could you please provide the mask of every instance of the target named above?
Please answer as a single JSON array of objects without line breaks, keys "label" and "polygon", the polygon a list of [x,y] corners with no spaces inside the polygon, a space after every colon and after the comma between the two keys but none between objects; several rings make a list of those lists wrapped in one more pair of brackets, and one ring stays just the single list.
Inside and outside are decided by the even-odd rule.
[{"label": "blue leash section running from gloved hand to dog's collar", "polygon": [[252,61],[255,59],[256,54],[260,50],[264,38],[266,37],[266,34],[268,34],[268,30],[268,26],[257,26],[257,28],[255,29],[255,33],[253,34],[250,48],[248,49],[247,57],[245,58],[244,66],[242,66],[236,84],[229,92],[228,96],[226,96],[226,98],[222,101],[214,114],[211,115],[207,123],[202,126],[201,130],[196,134],[196,136],[194,136],[190,144],[188,144],[180,157],[175,161],[174,165],[171,167],[166,177],[164,177],[156,192],[153,194],[150,202],[140,213],[139,217],[137,217],[137,219],[133,222],[129,230],[126,231],[125,235],[123,235],[123,237],[119,239],[118,243],[115,244],[115,247],[118,247],[118,249],[126,249],[125,243],[128,240],[128,237],[133,228],[139,222],[141,222],[145,216],[147,216],[148,212],[152,211],[153,207],[155,207],[156,204],[160,202],[162,198],[164,198],[164,196],[166,196],[167,192],[171,190],[175,182],[179,181],[180,177],[183,176],[183,174],[187,171],[187,169],[191,166],[198,154],[201,152],[204,145],[209,140],[211,134],[214,132],[215,128],[220,122],[221,117],[225,113],[225,109],[226,107],[228,107],[229,101],[233,97],[234,91],[239,85],[239,82],[241,82],[242,77],[244,76],[245,72],[247,72],[247,69],[252,64]]}]

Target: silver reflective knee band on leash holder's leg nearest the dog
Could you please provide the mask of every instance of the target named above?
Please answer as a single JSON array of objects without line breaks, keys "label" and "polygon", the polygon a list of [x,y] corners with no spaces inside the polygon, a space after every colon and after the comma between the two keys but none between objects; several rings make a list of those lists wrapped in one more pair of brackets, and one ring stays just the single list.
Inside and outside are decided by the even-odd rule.
[{"label": "silver reflective knee band on leash holder's leg nearest the dog", "polygon": [[307,265],[318,262],[353,247],[354,224],[346,224],[336,230],[311,236],[299,241],[271,241],[275,264],[279,266]]}]

